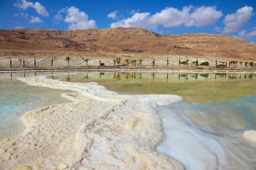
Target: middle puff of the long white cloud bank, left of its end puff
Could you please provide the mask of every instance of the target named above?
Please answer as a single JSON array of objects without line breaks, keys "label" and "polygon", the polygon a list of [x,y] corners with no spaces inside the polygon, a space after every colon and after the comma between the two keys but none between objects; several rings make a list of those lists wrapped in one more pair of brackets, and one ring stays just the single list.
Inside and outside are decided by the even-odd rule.
[{"label": "middle puff of the long white cloud bank, left of its end puff", "polygon": [[182,11],[177,10],[177,8],[166,7],[161,12],[157,12],[150,18],[151,24],[160,24],[164,27],[177,27],[181,24],[189,24],[191,19],[189,18],[189,11],[192,6],[183,7]]}]

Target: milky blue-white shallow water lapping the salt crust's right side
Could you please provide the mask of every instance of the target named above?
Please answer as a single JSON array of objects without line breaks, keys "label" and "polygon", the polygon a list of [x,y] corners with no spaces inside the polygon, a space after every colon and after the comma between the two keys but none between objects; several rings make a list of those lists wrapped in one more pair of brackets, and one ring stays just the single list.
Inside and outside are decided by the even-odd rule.
[{"label": "milky blue-white shallow water lapping the salt crust's right side", "polygon": [[158,107],[166,139],[158,151],[187,169],[256,169],[256,95],[219,104],[174,103]]}]

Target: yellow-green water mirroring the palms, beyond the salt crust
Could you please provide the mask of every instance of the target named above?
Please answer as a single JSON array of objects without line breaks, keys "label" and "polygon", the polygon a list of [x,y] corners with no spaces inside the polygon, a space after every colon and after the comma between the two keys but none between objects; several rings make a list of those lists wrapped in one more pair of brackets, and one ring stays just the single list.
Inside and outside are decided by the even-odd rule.
[{"label": "yellow-green water mirroring the palms, beyond the salt crust", "polygon": [[56,75],[69,82],[96,82],[121,94],[171,94],[192,103],[225,103],[256,94],[255,74],[245,73],[85,73]]}]

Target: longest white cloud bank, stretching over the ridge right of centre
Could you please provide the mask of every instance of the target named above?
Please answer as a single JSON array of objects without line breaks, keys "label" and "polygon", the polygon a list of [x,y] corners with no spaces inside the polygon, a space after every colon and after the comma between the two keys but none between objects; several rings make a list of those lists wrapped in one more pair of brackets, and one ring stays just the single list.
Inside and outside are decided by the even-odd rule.
[{"label": "longest white cloud bank, stretching over the ridge right of centre", "polygon": [[[193,9],[193,12],[191,10]],[[222,17],[222,12],[217,11],[215,6],[193,8],[184,6],[180,11],[177,8],[166,7],[160,12],[151,15],[149,12],[135,13],[131,18],[122,19],[112,23],[111,27],[144,27],[156,28],[157,25],[164,27],[178,27],[184,24],[186,27],[205,27],[214,25]]]}]

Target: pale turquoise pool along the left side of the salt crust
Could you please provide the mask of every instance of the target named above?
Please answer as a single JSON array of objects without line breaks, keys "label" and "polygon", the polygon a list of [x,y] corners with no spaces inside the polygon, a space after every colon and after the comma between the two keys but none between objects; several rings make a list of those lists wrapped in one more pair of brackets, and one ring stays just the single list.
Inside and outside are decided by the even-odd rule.
[{"label": "pale turquoise pool along the left side of the salt crust", "polygon": [[23,73],[12,74],[12,76],[11,78],[10,74],[1,74],[0,78],[0,139],[12,137],[24,131],[25,127],[19,118],[27,111],[69,102],[60,96],[67,91],[28,86],[15,79],[24,76]]}]

